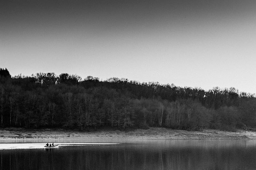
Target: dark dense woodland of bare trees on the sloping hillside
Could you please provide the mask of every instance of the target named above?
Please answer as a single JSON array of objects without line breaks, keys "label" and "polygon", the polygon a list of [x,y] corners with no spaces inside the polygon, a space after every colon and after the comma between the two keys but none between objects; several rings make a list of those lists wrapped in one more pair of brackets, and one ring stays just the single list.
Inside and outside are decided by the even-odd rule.
[{"label": "dark dense woodland of bare trees on the sloping hillside", "polygon": [[2,127],[235,130],[255,127],[254,94],[235,88],[140,83],[62,73],[11,76],[0,69]]}]

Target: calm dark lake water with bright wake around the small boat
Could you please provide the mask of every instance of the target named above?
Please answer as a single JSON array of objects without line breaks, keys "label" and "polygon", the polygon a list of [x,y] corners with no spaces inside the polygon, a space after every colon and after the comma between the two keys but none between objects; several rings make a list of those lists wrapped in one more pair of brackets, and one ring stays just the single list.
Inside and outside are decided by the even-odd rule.
[{"label": "calm dark lake water with bright wake around the small boat", "polygon": [[256,169],[253,140],[118,143],[76,141],[59,143],[59,148],[52,149],[39,143],[18,144],[27,149],[14,149],[17,144],[8,144],[9,148],[0,144],[1,169]]}]

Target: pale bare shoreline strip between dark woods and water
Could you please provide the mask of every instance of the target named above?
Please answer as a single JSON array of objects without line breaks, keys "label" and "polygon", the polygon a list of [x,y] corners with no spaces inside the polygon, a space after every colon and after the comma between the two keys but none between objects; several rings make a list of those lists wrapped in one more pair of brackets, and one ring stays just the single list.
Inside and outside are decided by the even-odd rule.
[{"label": "pale bare shoreline strip between dark woods and water", "polygon": [[28,130],[28,129],[1,129],[0,140],[155,140],[155,139],[256,139],[256,132],[238,130],[226,132],[214,129],[202,131],[173,130],[166,128],[136,129],[133,131],[120,130],[97,130],[97,131],[74,131],[74,130]]}]

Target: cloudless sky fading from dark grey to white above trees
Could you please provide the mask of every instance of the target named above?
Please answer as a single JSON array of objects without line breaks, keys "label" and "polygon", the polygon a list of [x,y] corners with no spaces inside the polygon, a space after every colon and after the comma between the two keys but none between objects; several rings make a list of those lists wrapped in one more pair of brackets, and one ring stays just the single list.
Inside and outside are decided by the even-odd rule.
[{"label": "cloudless sky fading from dark grey to white above trees", "polygon": [[6,0],[0,67],[256,93],[255,0]]}]

